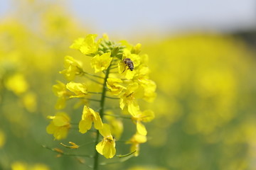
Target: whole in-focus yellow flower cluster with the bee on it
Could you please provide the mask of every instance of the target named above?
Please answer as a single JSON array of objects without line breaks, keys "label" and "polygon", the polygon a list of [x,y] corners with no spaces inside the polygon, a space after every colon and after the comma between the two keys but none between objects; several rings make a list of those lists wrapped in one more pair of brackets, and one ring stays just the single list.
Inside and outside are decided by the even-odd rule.
[{"label": "whole in-focus yellow flower cluster with the bee on it", "polygon": [[[85,72],[85,59],[66,56],[65,69],[60,74],[64,75],[68,83],[58,81],[53,86],[54,94],[58,96],[55,108],[63,109],[68,100],[78,98],[83,105],[79,132],[86,133],[93,125],[97,132],[95,149],[106,158],[112,158],[116,154],[115,140],[119,140],[123,130],[120,119],[129,118],[137,130],[126,143],[132,146],[131,152],[136,151],[134,156],[138,156],[139,144],[146,142],[147,130],[143,123],[154,119],[153,111],[142,111],[139,107],[140,99],[152,102],[156,96],[156,84],[149,79],[148,56],[139,55],[140,44],[132,46],[126,41],[113,42],[107,35],[98,40],[95,40],[96,37],[97,35],[87,35],[85,38],[78,38],[70,46],[80,50],[87,58],[91,57],[90,67],[95,73]],[[120,110],[111,111],[112,106],[117,103],[110,102],[117,100]],[[95,102],[99,103],[98,108],[94,108]],[[71,127],[69,116],[57,113],[48,118],[52,122],[48,125],[47,132],[53,134],[56,140],[66,137]]]}]

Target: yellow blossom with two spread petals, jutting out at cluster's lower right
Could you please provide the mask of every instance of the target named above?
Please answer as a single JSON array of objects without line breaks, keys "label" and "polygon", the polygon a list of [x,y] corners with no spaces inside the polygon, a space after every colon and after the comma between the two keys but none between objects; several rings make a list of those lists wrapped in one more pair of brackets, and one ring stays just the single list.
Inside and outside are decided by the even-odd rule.
[{"label": "yellow blossom with two spread petals, jutting out at cluster's lower right", "polygon": [[140,112],[137,115],[134,115],[132,117],[132,120],[134,120],[134,122],[137,125],[137,132],[140,135],[144,135],[144,136],[146,136],[147,131],[145,126],[142,124],[142,122],[150,122],[153,119],[154,119],[154,112],[151,110]]}]

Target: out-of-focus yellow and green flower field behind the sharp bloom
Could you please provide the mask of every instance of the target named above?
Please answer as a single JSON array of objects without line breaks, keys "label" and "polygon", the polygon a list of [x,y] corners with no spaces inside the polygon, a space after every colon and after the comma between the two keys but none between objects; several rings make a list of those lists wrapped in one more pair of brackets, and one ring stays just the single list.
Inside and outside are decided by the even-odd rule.
[{"label": "out-of-focus yellow and green flower field behind the sharp bloom", "polygon": [[[46,133],[46,116],[56,112],[52,86],[63,80],[64,56],[80,56],[69,49],[73,40],[90,33],[45,3],[23,1],[0,23],[0,169],[90,169],[42,147],[60,147]],[[256,169],[255,44],[203,31],[131,39],[149,55],[157,97],[145,107],[156,118],[139,157],[102,169]],[[70,139],[82,135],[73,130],[60,142]]]}]

